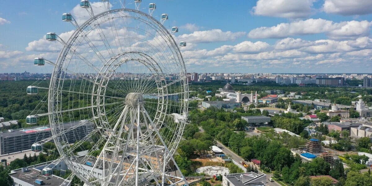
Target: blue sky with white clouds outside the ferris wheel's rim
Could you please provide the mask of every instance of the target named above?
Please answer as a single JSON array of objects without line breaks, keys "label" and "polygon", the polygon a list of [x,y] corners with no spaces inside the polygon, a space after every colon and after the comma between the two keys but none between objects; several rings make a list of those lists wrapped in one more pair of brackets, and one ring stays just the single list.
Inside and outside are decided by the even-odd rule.
[{"label": "blue sky with white clouds outside the ferris wheel's rim", "polygon": [[[33,58],[57,59],[45,34],[68,39],[74,26],[61,20],[72,13],[84,22],[79,0],[15,1],[0,6],[0,73],[45,73]],[[98,1],[90,1],[99,4]],[[122,0],[134,9],[132,1]],[[120,1],[110,1],[111,9]],[[140,10],[169,15],[178,26],[186,68],[198,73],[371,73],[371,0],[143,0]],[[93,7],[93,6],[92,6]],[[85,10],[84,10],[85,11]],[[99,9],[93,9],[99,12]]]}]

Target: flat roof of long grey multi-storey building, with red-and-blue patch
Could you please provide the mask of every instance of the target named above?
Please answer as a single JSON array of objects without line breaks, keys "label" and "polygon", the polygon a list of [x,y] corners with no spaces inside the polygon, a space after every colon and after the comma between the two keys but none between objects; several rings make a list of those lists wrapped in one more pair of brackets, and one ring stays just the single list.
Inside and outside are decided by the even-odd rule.
[{"label": "flat roof of long grey multi-storey building, with red-and-blue patch", "polygon": [[[68,128],[71,128],[73,126],[76,126],[78,124],[80,124],[81,121],[77,121],[77,122],[71,122],[71,123],[65,123],[65,124],[62,124],[63,128],[64,129],[68,129]],[[93,124],[92,122],[88,122],[87,124]],[[0,132],[0,136],[3,136],[3,137],[17,137],[17,136],[20,136],[20,135],[28,135],[28,134],[33,134],[33,133],[36,133],[36,132],[48,132],[50,131],[50,126],[36,126],[36,127],[33,127],[33,128],[28,128],[28,129],[19,129],[19,130],[14,130],[13,132]]]}]

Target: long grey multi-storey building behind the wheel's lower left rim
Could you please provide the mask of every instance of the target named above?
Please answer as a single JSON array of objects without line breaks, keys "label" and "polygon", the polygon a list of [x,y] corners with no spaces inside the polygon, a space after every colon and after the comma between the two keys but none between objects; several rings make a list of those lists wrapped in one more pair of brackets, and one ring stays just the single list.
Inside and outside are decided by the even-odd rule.
[{"label": "long grey multi-storey building behind the wheel's lower left rim", "polygon": [[[81,122],[83,121],[62,124],[62,128],[68,129]],[[66,132],[64,138],[67,138],[69,143],[74,143],[76,140],[81,140],[86,137],[93,129],[94,124],[88,122]],[[0,132],[0,155],[29,150],[32,144],[51,136],[52,133],[49,126]]]}]

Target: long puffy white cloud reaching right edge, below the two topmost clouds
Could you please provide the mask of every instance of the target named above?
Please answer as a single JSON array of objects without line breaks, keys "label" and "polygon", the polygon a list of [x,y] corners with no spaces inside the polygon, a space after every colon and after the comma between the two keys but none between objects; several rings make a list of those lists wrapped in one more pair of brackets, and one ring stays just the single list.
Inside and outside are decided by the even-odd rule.
[{"label": "long puffy white cloud reaching right edge, below the two topmost clouds", "polygon": [[326,33],[330,38],[346,39],[369,35],[371,22],[345,21],[334,23],[325,19],[307,19],[280,23],[272,27],[260,27],[248,33],[250,38],[285,38],[293,35]]}]

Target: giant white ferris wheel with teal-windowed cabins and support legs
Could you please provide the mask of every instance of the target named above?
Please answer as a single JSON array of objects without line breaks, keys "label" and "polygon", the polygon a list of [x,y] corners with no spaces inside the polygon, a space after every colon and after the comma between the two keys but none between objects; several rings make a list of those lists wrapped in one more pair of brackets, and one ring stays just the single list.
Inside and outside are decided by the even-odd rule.
[{"label": "giant white ferris wheel with teal-windowed cabins and support legs", "polygon": [[71,172],[66,182],[76,176],[85,185],[188,185],[182,173],[170,173],[179,170],[173,155],[186,124],[174,115],[188,112],[189,75],[180,52],[186,42],[176,43],[178,27],[165,26],[168,14],[153,16],[155,3],[148,13],[140,11],[141,0],[130,3],[134,9],[100,3],[80,1],[89,15],[84,23],[64,13],[62,20],[75,27],[68,39],[46,35],[61,47],[57,60],[34,60],[53,66],[49,87],[27,88],[47,91],[48,112],[35,111],[26,123],[47,117],[52,136],[32,150],[53,141],[60,158],[45,171],[63,161]]}]

